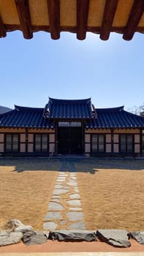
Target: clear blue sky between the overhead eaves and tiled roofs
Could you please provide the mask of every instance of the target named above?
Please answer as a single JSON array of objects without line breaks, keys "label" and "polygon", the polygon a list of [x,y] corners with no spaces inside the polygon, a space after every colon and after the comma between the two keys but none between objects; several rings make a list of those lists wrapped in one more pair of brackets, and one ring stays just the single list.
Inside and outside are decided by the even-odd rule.
[{"label": "clear blue sky between the overhead eaves and tiled roofs", "polygon": [[0,39],[0,105],[43,108],[48,97],[91,97],[96,108],[144,102],[144,34],[126,42],[121,34],[108,41],[87,34],[61,33],[53,40],[45,32],[23,39],[20,31]]}]

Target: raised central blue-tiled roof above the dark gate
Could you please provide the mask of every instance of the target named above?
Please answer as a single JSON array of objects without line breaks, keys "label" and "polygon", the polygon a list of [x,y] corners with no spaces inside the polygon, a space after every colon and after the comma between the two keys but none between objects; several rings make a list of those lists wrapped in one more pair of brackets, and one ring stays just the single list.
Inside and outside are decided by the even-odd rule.
[{"label": "raised central blue-tiled roof above the dark gate", "polygon": [[91,99],[52,99],[45,106],[48,118],[92,118],[96,116]]}]

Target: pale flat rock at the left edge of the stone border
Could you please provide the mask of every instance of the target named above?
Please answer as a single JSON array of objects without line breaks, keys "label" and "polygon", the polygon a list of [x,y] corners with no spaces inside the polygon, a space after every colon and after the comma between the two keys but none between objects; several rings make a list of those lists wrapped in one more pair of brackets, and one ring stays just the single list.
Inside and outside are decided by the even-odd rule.
[{"label": "pale flat rock at the left edge of the stone border", "polygon": [[23,238],[23,233],[18,232],[0,232],[0,246],[10,245],[10,244],[18,244]]}]

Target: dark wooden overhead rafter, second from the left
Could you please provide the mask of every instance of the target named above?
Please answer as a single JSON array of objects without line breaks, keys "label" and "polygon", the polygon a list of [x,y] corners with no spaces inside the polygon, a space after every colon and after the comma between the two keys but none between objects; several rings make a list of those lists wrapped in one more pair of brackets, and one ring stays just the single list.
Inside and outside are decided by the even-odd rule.
[{"label": "dark wooden overhead rafter, second from the left", "polygon": [[15,4],[18,11],[21,30],[23,31],[23,37],[31,39],[33,37],[33,33],[31,27],[31,15],[29,11],[29,0],[15,0]]}]

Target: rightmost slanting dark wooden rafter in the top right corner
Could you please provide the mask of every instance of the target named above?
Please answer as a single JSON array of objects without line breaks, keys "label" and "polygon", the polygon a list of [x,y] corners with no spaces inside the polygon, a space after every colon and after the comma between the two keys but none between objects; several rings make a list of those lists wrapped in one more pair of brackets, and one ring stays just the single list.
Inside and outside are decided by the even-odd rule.
[{"label": "rightmost slanting dark wooden rafter in the top right corner", "polygon": [[143,0],[134,0],[132,10],[129,15],[129,19],[124,29],[123,38],[125,40],[131,40],[134,36],[134,32],[137,30],[138,23],[144,12],[144,1]]}]

